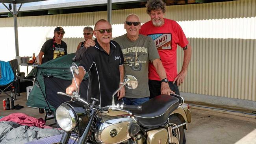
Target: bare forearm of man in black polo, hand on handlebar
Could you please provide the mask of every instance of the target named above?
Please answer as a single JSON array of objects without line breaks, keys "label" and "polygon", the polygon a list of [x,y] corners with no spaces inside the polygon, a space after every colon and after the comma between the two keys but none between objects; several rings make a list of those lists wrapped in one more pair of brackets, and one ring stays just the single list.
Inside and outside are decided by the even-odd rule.
[{"label": "bare forearm of man in black polo, hand on handlebar", "polygon": [[[79,69],[79,74],[78,75],[74,74],[74,76],[75,76],[76,83],[77,83],[77,86],[78,86],[78,89],[79,89],[80,84],[83,80],[83,76],[86,74],[86,72],[82,68],[82,66],[79,66],[78,69]],[[71,85],[69,87],[67,87],[67,89],[66,89],[66,94],[71,95],[73,91],[76,91],[76,83],[75,83],[74,78],[73,78]]]}]

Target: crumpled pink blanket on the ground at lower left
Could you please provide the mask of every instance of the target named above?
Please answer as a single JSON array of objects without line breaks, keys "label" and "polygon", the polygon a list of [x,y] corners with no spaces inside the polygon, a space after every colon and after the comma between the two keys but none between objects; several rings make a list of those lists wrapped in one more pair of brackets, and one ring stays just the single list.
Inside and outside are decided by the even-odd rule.
[{"label": "crumpled pink blanket on the ground at lower left", "polygon": [[8,116],[4,116],[3,118],[1,118],[0,121],[10,121],[10,122],[16,122],[20,125],[49,128],[49,126],[45,126],[45,120],[43,120],[43,118],[36,119],[32,116],[28,116],[23,113],[9,114]]}]

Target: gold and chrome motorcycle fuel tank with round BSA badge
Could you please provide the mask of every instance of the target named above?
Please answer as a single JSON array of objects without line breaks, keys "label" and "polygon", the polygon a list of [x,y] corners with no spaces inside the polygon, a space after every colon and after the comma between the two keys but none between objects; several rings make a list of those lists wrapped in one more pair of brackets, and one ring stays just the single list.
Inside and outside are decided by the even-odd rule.
[{"label": "gold and chrome motorcycle fuel tank with round BSA badge", "polygon": [[95,139],[99,144],[116,144],[139,132],[137,118],[123,111],[108,110],[97,115]]}]

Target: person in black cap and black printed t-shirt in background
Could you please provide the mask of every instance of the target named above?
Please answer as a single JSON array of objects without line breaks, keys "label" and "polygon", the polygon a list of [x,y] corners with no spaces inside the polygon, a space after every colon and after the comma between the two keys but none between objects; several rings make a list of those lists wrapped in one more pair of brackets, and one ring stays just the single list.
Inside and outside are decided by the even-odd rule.
[{"label": "person in black cap and black printed t-shirt in background", "polygon": [[47,40],[38,54],[40,65],[67,54],[67,44],[62,41],[64,34],[63,28],[57,27],[54,29],[53,39]]}]

